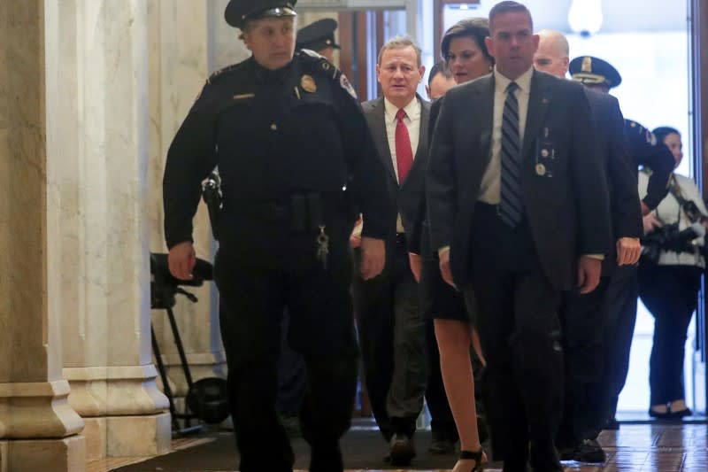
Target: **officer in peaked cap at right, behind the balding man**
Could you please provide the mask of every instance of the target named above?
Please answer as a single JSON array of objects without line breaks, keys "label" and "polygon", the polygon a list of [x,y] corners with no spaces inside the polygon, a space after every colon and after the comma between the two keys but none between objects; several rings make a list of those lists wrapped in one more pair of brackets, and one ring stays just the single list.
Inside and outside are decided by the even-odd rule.
[{"label": "officer in peaked cap at right, behind the balding man", "polygon": [[[574,58],[570,62],[573,80],[582,82],[589,89],[609,93],[620,85],[622,78],[608,62],[590,56]],[[657,207],[668,193],[668,183],[673,172],[673,155],[664,143],[658,143],[650,130],[632,120],[625,120],[625,134],[629,153],[634,160],[633,169],[643,166],[651,169],[647,196],[640,201],[642,214]],[[636,177],[636,175],[635,175]],[[624,388],[629,368],[629,350],[635,332],[636,298],[638,296],[636,266],[620,266],[612,274],[604,298],[606,324],[604,328],[604,362],[602,388],[608,395],[606,429],[618,429],[615,419],[617,401]]]}]

